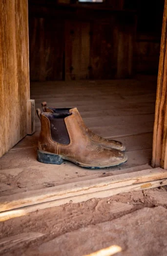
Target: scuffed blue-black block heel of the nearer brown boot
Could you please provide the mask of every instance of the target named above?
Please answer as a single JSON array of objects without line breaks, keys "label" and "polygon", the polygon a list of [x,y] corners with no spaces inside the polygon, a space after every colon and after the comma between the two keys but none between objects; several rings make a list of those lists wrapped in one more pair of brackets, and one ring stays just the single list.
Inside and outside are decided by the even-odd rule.
[{"label": "scuffed blue-black block heel of the nearer brown boot", "polygon": [[49,164],[62,164],[63,159],[59,154],[47,153],[42,150],[38,150],[37,160],[42,163]]}]

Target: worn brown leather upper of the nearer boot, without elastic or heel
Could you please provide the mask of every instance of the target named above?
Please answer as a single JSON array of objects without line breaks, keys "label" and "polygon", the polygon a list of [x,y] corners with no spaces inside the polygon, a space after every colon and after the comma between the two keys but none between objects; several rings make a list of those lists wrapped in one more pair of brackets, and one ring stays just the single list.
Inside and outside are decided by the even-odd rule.
[{"label": "worn brown leather upper of the nearer boot, without elastic or heel", "polygon": [[66,159],[81,163],[85,167],[107,167],[127,160],[127,156],[124,153],[115,149],[105,149],[97,145],[83,126],[77,108],[70,109],[69,111],[71,115],[64,119],[70,139],[68,145],[52,140],[50,121],[47,117],[51,113],[45,112],[41,114],[41,133],[38,143],[40,150],[65,156]]}]

